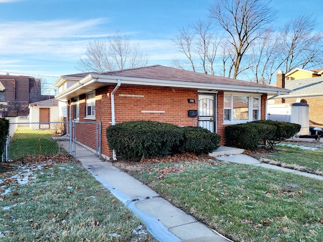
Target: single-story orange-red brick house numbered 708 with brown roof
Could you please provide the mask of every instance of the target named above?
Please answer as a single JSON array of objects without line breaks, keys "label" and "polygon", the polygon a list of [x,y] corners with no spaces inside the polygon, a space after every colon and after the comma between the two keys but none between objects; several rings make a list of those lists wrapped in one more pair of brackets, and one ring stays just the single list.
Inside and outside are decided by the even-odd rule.
[{"label": "single-story orange-red brick house numbered 708 with brown roof", "polygon": [[68,104],[68,119],[101,122],[101,152],[107,158],[112,151],[105,129],[111,125],[155,120],[200,126],[221,135],[223,145],[226,126],[265,119],[267,95],[289,92],[159,65],[66,75],[53,85],[59,88],[56,98]]}]

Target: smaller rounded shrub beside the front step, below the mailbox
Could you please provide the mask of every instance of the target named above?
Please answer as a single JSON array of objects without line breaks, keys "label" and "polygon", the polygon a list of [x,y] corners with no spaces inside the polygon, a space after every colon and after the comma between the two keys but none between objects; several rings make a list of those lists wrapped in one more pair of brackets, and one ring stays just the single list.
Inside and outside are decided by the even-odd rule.
[{"label": "smaller rounded shrub beside the front step, below the mailbox", "polygon": [[183,127],[180,150],[195,154],[208,154],[220,147],[221,136],[201,127]]}]

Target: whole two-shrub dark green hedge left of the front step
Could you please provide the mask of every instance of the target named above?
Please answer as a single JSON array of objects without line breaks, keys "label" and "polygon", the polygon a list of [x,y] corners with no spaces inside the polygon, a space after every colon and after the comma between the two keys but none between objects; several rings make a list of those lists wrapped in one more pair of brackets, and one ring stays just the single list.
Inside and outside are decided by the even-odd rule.
[{"label": "whole two-shrub dark green hedge left of the front step", "polygon": [[162,157],[170,152],[207,154],[221,137],[199,127],[178,127],[155,121],[130,121],[106,128],[110,149],[124,157]]}]

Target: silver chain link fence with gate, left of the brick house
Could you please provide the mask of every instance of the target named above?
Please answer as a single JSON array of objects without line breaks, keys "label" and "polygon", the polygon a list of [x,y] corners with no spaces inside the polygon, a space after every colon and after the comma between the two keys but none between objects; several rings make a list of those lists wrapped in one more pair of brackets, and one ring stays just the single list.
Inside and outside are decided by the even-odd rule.
[{"label": "silver chain link fence with gate, left of the brick house", "polygon": [[10,122],[4,160],[40,154],[101,156],[99,122]]}]

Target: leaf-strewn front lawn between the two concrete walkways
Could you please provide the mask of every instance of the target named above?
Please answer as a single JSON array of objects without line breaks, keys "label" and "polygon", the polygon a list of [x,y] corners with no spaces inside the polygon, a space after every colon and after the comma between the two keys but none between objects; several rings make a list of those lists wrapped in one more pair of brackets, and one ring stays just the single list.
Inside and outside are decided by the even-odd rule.
[{"label": "leaf-strewn front lawn between the two concrete walkways", "polygon": [[129,172],[234,241],[322,241],[321,180],[221,161],[141,164]]}]

